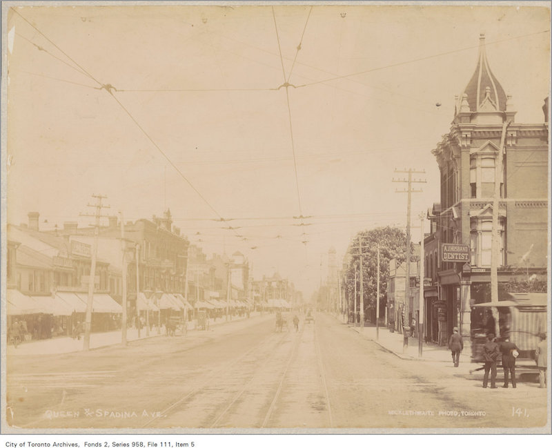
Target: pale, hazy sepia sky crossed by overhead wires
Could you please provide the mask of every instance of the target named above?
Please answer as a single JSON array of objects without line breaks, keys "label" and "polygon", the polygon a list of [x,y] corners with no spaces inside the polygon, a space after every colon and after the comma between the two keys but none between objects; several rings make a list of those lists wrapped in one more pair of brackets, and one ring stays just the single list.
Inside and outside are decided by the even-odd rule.
[{"label": "pale, hazy sepia sky crossed by overhead wires", "polygon": [[549,3],[3,6],[7,222],[87,225],[92,194],[126,221],[170,208],[306,298],[330,247],[340,264],[358,231],[406,226],[395,169],[424,171],[413,225],[439,201],[431,150],[481,32],[515,121],[544,121]]}]

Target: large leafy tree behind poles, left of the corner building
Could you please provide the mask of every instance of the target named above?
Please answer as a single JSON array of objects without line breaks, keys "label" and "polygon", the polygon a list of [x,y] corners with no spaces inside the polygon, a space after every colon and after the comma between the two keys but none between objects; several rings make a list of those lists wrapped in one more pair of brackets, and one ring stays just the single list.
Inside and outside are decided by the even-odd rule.
[{"label": "large leafy tree behind poles, left of the corner building", "polygon": [[[362,244],[360,244],[361,242]],[[378,245],[380,246],[380,313],[383,313],[386,306],[387,281],[389,280],[389,260],[395,258],[397,264],[400,265],[405,258],[406,235],[400,228],[386,226],[357,233],[347,250],[348,265],[344,275],[347,296],[353,297],[354,303],[355,270],[357,271],[357,293],[360,291],[359,246],[362,246],[364,313],[373,318],[375,318],[375,311],[372,310],[375,310],[377,295]],[[414,260],[414,257],[411,260]]]}]

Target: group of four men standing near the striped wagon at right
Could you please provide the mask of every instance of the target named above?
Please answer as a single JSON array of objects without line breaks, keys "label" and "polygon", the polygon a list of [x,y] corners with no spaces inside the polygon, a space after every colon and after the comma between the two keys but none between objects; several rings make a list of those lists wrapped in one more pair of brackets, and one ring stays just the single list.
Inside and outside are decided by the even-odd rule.
[{"label": "group of four men standing near the striped wagon at right", "polygon": [[[460,362],[460,352],[464,349],[462,336],[458,333],[457,327],[454,327],[453,334],[449,340],[449,349],[451,350],[454,367],[458,367]],[[539,371],[539,387],[546,387],[546,368],[547,368],[546,334],[540,335],[540,342],[535,349],[535,362]],[[495,341],[495,335],[489,333],[487,342],[483,346],[484,376],[483,387],[489,384],[489,373],[491,373],[491,389],[496,389],[496,368],[499,359],[502,359],[502,368],[504,369],[504,385],[509,387],[511,380],[512,387],[516,387],[515,382],[515,358],[520,355],[520,349],[510,341],[508,335],[502,338],[502,342]]]}]

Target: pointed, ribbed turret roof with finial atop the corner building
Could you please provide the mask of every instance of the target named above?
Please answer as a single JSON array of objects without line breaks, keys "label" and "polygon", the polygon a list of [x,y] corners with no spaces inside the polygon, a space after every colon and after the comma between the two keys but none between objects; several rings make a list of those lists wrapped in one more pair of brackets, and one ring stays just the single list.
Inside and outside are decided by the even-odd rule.
[{"label": "pointed, ribbed turret roof with finial atop the corner building", "polygon": [[[464,92],[459,97],[460,104],[457,105],[457,110],[467,112],[466,106],[469,105],[470,112],[504,112],[506,110],[506,93],[489,67],[485,52],[484,33],[481,33],[479,42],[477,66]],[[467,105],[465,100],[467,100]]]}]

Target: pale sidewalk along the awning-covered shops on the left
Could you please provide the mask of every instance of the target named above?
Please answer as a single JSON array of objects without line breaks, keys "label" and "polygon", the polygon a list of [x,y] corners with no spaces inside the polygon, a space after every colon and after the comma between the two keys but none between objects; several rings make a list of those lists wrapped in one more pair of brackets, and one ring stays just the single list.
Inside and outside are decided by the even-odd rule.
[{"label": "pale sidewalk along the awning-covered shops on the left", "polygon": [[[266,313],[265,313],[266,314]],[[253,319],[257,316],[260,316],[259,312],[250,313],[250,319]],[[231,322],[238,322],[248,320],[246,316],[242,318],[234,317],[232,320],[228,320],[228,324]],[[213,322],[213,319],[210,319],[209,327],[219,327],[220,325],[226,324],[226,319],[219,318],[217,322]],[[188,333],[190,331],[195,331],[195,322],[188,322]],[[159,333],[157,327],[153,327],[150,330],[150,334],[146,335],[146,329],[141,329],[140,337],[138,337],[138,330],[135,328],[129,328],[126,332],[127,342],[132,342],[135,340],[142,340],[146,338],[155,338],[159,336],[166,336],[165,328],[161,327]],[[181,338],[181,333],[177,333],[176,338]],[[100,349],[102,347],[109,347],[112,345],[121,344],[121,331],[108,331],[106,333],[91,333],[90,334],[90,349]],[[6,354],[8,356],[30,356],[30,355],[55,355],[61,353],[74,353],[77,351],[82,351],[83,349],[83,339],[80,340],[70,338],[69,336],[63,336],[61,338],[51,338],[44,340],[36,340],[30,342],[22,342],[19,344],[17,349],[12,345],[7,347]]]}]

